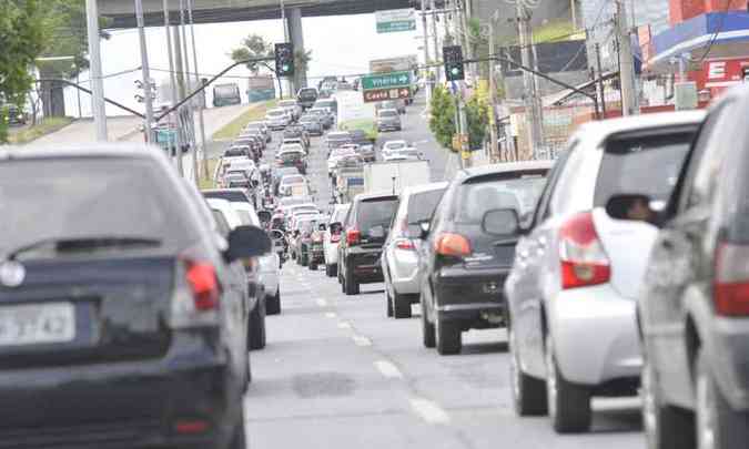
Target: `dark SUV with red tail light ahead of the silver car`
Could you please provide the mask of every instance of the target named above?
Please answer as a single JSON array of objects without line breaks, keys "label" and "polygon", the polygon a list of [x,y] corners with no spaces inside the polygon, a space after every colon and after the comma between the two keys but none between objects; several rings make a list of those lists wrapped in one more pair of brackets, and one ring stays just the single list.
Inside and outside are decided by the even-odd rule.
[{"label": "dark SUV with red tail light ahead of the silver car", "polygon": [[383,282],[379,257],[397,208],[397,195],[362,194],[352,202],[338,245],[338,280],[346,295],[358,295],[360,284]]}]

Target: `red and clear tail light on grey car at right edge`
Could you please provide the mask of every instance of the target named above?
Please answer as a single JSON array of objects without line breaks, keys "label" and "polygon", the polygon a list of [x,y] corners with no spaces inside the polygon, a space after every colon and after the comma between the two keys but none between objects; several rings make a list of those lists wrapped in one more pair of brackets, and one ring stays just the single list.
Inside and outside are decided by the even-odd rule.
[{"label": "red and clear tail light on grey car at right edge", "polygon": [[723,316],[749,315],[749,245],[722,243],[716,251],[713,300]]}]

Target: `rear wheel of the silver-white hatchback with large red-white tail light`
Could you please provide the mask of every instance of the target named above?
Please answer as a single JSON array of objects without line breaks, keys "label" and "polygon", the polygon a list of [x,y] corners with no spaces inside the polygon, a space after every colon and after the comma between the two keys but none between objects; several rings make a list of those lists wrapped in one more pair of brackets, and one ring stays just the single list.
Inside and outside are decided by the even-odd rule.
[{"label": "rear wheel of the silver-white hatchback with large red-white tail light", "polygon": [[549,417],[558,433],[588,431],[591,421],[590,390],[565,380],[559,373],[551,336],[546,337],[546,396]]}]

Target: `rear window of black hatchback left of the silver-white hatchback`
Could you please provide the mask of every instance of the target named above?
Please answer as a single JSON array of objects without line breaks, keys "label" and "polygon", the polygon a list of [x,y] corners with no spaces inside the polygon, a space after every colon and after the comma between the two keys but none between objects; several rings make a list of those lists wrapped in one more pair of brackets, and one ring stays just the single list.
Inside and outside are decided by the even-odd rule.
[{"label": "rear window of black hatchback left of the silver-white hatchback", "polygon": [[456,195],[455,221],[478,224],[494,208],[515,208],[525,215],[534,210],[546,185],[546,170],[497,173],[470,178]]}]

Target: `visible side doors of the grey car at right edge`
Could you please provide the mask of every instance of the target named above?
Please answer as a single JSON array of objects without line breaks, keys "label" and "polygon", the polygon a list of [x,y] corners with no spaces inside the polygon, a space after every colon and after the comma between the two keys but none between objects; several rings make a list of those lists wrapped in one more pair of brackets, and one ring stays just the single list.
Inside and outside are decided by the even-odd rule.
[{"label": "visible side doors of the grey car at right edge", "polygon": [[730,103],[726,103],[710,113],[700,130],[677,186],[678,194],[672,198],[674,218],[656,239],[646,274],[649,290],[639,303],[647,356],[656,376],[664,379],[659,385],[666,400],[682,407],[691,407],[695,397],[685,294],[690,287],[705,288],[706,273],[711,271],[705,265],[709,259],[704,254],[705,235],[709,231],[718,169],[733,139],[717,134],[717,130],[730,129],[727,126],[732,119]]}]

